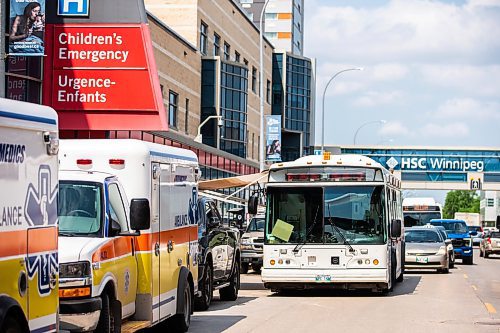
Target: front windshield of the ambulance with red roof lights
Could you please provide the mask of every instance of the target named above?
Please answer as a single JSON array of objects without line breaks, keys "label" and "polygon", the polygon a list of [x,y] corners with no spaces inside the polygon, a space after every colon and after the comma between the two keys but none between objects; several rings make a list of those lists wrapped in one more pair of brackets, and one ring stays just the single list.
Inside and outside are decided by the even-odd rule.
[{"label": "front windshield of the ambulance with red roof lights", "polygon": [[60,236],[98,236],[101,229],[101,186],[89,182],[59,182]]}]

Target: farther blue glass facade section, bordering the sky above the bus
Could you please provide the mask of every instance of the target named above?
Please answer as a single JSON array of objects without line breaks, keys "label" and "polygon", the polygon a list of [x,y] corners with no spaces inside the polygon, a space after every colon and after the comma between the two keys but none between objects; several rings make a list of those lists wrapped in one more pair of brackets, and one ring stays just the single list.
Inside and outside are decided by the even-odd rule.
[{"label": "farther blue glass facade section, bordering the sky above the bus", "polygon": [[[272,114],[284,115],[282,158],[293,161],[311,144],[312,64],[291,54],[273,54]],[[302,137],[302,139],[300,139]],[[301,151],[303,147],[303,151]]]}]

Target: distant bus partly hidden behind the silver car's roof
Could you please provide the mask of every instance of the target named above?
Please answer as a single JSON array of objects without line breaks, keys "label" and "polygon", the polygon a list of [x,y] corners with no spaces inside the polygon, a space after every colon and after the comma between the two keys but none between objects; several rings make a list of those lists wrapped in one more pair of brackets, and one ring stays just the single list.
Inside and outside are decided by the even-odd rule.
[{"label": "distant bus partly hidden behind the silver car's roof", "polygon": [[404,198],[403,217],[405,227],[426,225],[432,219],[442,219],[443,208],[434,198]]}]

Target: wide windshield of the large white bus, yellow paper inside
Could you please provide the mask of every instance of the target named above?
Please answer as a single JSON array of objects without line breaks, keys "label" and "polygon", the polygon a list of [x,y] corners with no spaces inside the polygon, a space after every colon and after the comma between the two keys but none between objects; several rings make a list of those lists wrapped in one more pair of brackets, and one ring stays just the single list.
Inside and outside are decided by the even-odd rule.
[{"label": "wide windshield of the large white bus, yellow paper inside", "polygon": [[384,186],[268,187],[268,244],[384,244]]}]

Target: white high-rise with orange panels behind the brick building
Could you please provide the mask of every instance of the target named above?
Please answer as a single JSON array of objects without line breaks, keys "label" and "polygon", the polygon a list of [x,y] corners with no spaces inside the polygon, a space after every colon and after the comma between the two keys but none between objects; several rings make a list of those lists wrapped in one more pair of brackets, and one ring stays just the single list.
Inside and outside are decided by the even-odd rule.
[{"label": "white high-rise with orange panels behind the brick building", "polygon": [[[265,0],[239,0],[249,18],[259,27]],[[303,55],[304,0],[270,0],[263,22],[266,38],[276,51]]]}]

